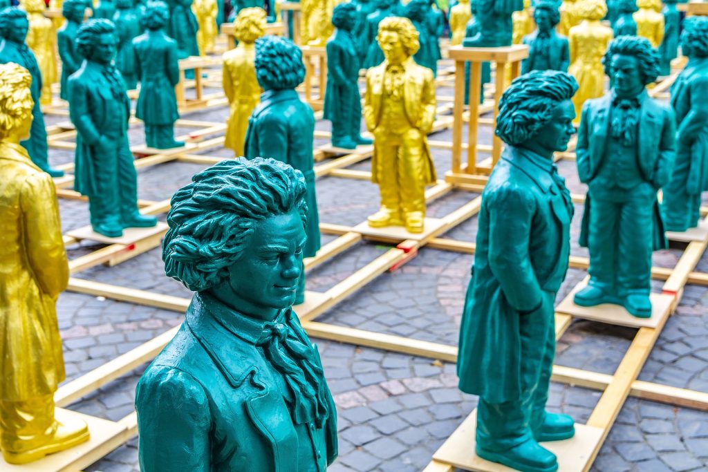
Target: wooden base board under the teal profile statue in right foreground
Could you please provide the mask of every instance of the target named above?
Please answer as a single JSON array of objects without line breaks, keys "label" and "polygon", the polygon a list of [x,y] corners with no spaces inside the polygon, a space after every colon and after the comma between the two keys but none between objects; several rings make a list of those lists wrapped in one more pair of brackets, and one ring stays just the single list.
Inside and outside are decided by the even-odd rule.
[{"label": "wooden base board under the teal profile statue in right foreground", "polygon": [[[465,471],[515,472],[513,468],[486,461],[474,453],[476,425],[477,410],[475,409],[435,452],[433,459]],[[544,442],[542,445],[556,454],[558,472],[582,472],[589,467],[588,462],[593,456],[593,450],[598,447],[602,437],[601,428],[576,423],[576,434],[571,439]]]}]

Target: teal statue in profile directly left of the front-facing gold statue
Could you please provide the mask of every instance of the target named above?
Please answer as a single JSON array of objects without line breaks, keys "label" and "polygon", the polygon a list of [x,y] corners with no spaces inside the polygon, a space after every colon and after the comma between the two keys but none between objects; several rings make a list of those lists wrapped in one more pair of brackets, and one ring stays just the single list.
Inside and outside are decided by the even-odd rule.
[{"label": "teal statue in profile directly left of the front-facing gold statue", "polygon": [[332,24],[336,28],[327,42],[327,88],[324,94],[324,119],[332,122],[332,146],[355,149],[371,144],[361,137],[361,95],[359,57],[352,30],[356,25],[356,6],[334,7]]}]

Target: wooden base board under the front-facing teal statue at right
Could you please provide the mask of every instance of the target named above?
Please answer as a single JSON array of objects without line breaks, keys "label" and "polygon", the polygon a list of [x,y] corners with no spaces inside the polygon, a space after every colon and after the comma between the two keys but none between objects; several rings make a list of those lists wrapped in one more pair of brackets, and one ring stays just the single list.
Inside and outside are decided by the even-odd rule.
[{"label": "wooden base board under the front-facing teal statue at right", "polygon": [[576,318],[583,318],[591,321],[600,321],[611,325],[629,326],[630,328],[656,328],[662,323],[663,318],[669,315],[671,304],[675,297],[667,294],[651,294],[651,318],[637,318],[632,316],[623,306],[613,304],[601,304],[598,306],[579,306],[573,302],[573,297],[587,285],[583,281],[556,306],[557,313],[566,313]]}]

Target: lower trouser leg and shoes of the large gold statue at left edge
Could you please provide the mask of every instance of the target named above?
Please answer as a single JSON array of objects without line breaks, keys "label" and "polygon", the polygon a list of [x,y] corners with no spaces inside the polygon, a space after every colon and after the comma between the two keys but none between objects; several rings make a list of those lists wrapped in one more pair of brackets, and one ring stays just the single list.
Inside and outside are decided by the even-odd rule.
[{"label": "lower trouser leg and shoes of the large gold statue at left edge", "polygon": [[54,395],[0,401],[0,447],[9,464],[26,464],[89,439],[83,420],[58,422]]}]

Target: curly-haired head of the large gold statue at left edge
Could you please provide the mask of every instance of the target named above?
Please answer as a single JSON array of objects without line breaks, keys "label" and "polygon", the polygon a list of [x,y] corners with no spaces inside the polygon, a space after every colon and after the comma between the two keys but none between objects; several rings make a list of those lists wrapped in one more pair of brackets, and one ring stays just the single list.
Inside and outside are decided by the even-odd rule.
[{"label": "curly-haired head of the large gold statue at left edge", "polygon": [[30,135],[34,100],[32,76],[14,62],[0,64],[0,141],[21,141]]}]

